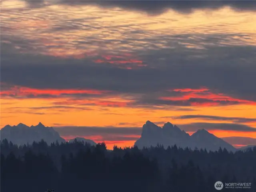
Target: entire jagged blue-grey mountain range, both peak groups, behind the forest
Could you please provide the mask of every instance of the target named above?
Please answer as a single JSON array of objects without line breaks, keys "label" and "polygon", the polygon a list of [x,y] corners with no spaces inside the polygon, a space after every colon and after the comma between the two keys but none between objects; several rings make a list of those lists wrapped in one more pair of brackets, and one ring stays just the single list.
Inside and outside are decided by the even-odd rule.
[{"label": "entire jagged blue-grey mountain range, both peak groups, behind the forest", "polygon": [[[0,136],[1,140],[7,139],[18,145],[32,144],[32,142],[39,142],[42,139],[48,144],[56,141],[59,143],[66,142],[54,128],[44,126],[42,123],[30,127],[22,123],[16,126],[6,125],[0,130]],[[84,141],[91,145],[96,145],[92,140],[79,137],[71,139],[69,142],[74,142],[75,139],[78,142]],[[156,124],[147,121],[142,127],[141,137],[134,143],[134,145],[138,146],[138,148],[143,148],[157,146],[158,144],[163,145],[164,148],[176,144],[177,147],[188,147],[192,150],[195,148],[202,148],[215,151],[220,147],[222,149],[226,148],[228,151],[236,150],[236,148],[228,142],[214,136],[204,129],[200,129],[190,136],[184,130],[180,130],[178,126],[173,125],[170,122],[165,123],[161,128]]]}]

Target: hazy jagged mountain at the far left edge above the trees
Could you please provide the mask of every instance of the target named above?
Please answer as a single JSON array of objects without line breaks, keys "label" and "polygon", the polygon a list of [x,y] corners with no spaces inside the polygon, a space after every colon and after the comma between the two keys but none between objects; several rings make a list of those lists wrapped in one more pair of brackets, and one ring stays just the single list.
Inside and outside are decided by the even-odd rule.
[{"label": "hazy jagged mountain at the far left edge above the trees", "polygon": [[26,126],[25,124],[18,124],[17,126],[6,125],[0,130],[1,140],[7,139],[13,144],[24,145],[32,144],[34,141],[39,142],[42,139],[51,144],[58,141],[66,142],[58,132],[52,127],[46,127],[41,122],[36,126]]}]

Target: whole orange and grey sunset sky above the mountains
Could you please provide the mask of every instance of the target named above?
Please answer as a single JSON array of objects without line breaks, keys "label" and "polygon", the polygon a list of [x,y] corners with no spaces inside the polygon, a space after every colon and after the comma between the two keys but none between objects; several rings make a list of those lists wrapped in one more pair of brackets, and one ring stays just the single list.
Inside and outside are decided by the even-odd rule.
[{"label": "whole orange and grey sunset sky above the mountains", "polygon": [[108,148],[147,120],[256,138],[255,1],[0,3],[1,128],[42,122]]}]

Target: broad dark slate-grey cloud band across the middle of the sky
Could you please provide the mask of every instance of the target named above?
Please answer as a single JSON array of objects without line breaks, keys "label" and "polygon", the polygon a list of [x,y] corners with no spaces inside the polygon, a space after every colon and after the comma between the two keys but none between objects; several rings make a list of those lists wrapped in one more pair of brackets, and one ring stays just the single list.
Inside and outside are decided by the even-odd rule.
[{"label": "broad dark slate-grey cloud band across the middle of the sky", "polygon": [[[16,59],[18,60],[19,56]],[[2,82],[39,89],[92,88],[124,93],[148,93],[172,88],[205,86],[236,98],[256,101],[256,89],[253,83],[256,76],[255,65],[245,67],[228,64],[215,66],[181,64],[170,65],[165,69],[125,70],[107,66],[81,65],[76,60],[70,59],[72,65],[63,62],[60,68],[58,64],[45,63],[60,63],[61,60],[46,57],[42,63],[38,61],[33,65],[20,63],[13,67],[17,60],[10,58],[8,62],[1,63]]]}]

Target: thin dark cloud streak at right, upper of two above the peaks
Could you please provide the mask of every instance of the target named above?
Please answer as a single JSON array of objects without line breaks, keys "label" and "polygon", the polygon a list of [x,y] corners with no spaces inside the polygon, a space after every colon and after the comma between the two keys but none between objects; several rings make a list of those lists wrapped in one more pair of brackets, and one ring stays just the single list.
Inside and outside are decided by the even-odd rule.
[{"label": "thin dark cloud streak at right, upper of two above the peaks", "polygon": [[[167,118],[167,117],[162,117]],[[256,122],[256,118],[243,118],[243,117],[223,117],[211,115],[182,115],[172,116],[172,119],[204,119],[204,120],[218,120],[218,121],[232,121],[234,123],[250,123]]]}]

